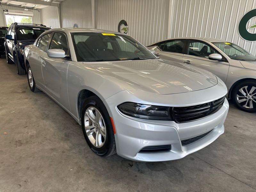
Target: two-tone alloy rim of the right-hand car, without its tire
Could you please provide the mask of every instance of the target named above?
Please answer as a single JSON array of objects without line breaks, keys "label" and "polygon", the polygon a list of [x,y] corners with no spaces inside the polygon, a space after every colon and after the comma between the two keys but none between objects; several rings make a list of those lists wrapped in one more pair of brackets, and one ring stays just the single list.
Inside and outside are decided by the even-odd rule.
[{"label": "two-tone alloy rim of the right-hand car, without its tire", "polygon": [[256,87],[242,87],[236,93],[236,100],[244,108],[256,108]]}]

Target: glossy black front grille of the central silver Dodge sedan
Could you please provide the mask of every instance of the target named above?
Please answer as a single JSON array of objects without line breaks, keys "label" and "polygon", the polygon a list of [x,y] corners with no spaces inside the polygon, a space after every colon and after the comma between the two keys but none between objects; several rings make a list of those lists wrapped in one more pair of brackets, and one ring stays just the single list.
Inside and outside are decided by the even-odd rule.
[{"label": "glossy black front grille of the central silver Dodge sedan", "polygon": [[225,97],[201,105],[189,107],[174,107],[173,119],[176,123],[184,123],[204,118],[216,112],[224,103]]}]

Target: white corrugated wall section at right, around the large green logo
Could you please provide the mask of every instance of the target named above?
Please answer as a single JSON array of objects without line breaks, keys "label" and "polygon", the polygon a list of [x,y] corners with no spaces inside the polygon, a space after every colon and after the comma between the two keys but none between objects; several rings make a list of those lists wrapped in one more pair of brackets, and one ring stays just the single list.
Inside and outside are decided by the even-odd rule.
[{"label": "white corrugated wall section at right, around the large green logo", "polygon": [[[238,44],[256,55],[256,43],[243,40],[237,29],[242,16],[256,7],[255,0],[172,0],[172,3],[168,38],[218,38]],[[248,23],[253,25],[256,19]]]}]

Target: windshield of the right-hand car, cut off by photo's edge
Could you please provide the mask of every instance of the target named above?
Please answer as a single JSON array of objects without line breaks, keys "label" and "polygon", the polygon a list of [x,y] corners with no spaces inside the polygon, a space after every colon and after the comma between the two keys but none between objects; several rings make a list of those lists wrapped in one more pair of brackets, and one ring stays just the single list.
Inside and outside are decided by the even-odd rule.
[{"label": "windshield of the right-hand car, cut off by photo's edge", "polygon": [[239,47],[236,44],[228,43],[228,42],[218,42],[213,43],[217,47],[220,48],[230,59],[234,60],[242,60],[242,61],[254,61],[256,57],[251,53],[245,51],[243,48]]}]

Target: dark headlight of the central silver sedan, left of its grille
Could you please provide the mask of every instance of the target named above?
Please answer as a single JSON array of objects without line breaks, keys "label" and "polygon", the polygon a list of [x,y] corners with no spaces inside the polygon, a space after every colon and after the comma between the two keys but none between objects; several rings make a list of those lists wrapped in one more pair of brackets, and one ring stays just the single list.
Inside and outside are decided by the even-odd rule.
[{"label": "dark headlight of the central silver sedan, left of its grille", "polygon": [[141,119],[154,120],[172,120],[170,107],[144,105],[139,103],[126,102],[117,106],[117,108],[128,116]]}]

